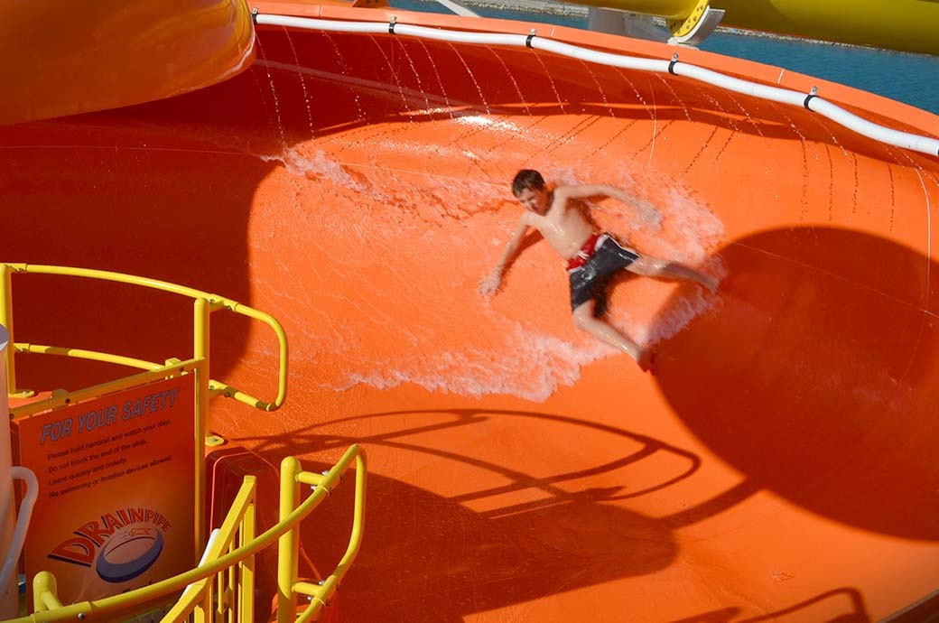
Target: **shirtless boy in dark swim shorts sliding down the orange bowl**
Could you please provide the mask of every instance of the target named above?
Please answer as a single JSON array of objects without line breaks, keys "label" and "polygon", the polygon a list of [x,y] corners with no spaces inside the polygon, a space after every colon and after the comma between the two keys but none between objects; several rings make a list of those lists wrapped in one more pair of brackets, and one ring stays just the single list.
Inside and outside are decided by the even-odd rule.
[{"label": "shirtless boy in dark swim shorts sliding down the orange bowl", "polygon": [[[496,268],[480,283],[482,294],[489,295],[499,289],[502,274],[515,258],[518,247],[530,227],[541,232],[548,244],[567,260],[570,275],[571,307],[574,323],[597,339],[627,352],[643,370],[652,367],[652,352],[626,337],[605,320],[598,318],[606,306],[604,288],[608,276],[625,269],[650,277],[666,277],[694,281],[714,291],[716,279],[699,273],[683,264],[654,257],[642,257],[625,248],[608,234],[594,230],[591,222],[572,200],[592,196],[611,196],[627,205],[636,205],[645,213],[644,218],[657,224],[661,215],[648,204],[615,186],[588,184],[546,187],[541,174],[531,169],[518,172],[512,182],[512,192],[528,210],[522,214],[512,240],[505,246]],[[598,302],[600,303],[598,307]]]}]

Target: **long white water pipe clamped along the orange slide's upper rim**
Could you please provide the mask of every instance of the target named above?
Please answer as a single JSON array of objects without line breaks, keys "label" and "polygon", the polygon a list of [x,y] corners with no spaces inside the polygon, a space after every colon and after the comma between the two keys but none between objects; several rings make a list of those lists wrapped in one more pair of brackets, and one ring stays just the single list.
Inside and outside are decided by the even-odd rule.
[{"label": "long white water pipe clamped along the orange slide's upper rim", "polygon": [[329,32],[359,32],[359,33],[391,33],[393,35],[411,36],[420,39],[437,39],[454,41],[457,43],[472,43],[480,45],[501,46],[527,46],[538,50],[546,50],[557,55],[570,56],[581,60],[588,60],[601,65],[620,67],[628,70],[654,71],[657,73],[672,73],[692,80],[697,80],[718,88],[727,89],[736,93],[744,93],[762,100],[777,101],[792,106],[805,106],[808,110],[835,121],[841,126],[859,134],[863,134],[881,143],[899,148],[919,151],[931,156],[939,155],[939,139],[921,136],[910,132],[901,132],[878,125],[865,118],[857,117],[853,113],[839,106],[824,101],[813,93],[800,93],[778,86],[762,85],[740,78],[706,70],[696,65],[682,63],[677,58],[672,60],[659,60],[637,56],[615,55],[608,52],[599,52],[587,48],[577,47],[562,41],[536,37],[534,30],[531,35],[509,35],[503,33],[471,33],[445,28],[428,28],[397,23],[393,18],[391,23],[374,22],[338,22],[331,20],[316,20],[311,18],[289,17],[285,15],[254,15],[254,22],[289,26],[307,30],[324,30]]}]

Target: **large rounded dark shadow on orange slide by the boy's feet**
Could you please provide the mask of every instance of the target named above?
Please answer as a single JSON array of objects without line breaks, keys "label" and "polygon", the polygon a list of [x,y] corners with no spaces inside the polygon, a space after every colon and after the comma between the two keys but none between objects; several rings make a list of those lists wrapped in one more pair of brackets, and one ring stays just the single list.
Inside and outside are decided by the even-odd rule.
[{"label": "large rounded dark shadow on orange slide by the boy's feet", "polygon": [[[716,309],[659,345],[675,413],[756,485],[898,537],[939,538],[937,267],[845,229],[767,231],[721,251]],[[677,302],[676,302],[677,303]]]}]

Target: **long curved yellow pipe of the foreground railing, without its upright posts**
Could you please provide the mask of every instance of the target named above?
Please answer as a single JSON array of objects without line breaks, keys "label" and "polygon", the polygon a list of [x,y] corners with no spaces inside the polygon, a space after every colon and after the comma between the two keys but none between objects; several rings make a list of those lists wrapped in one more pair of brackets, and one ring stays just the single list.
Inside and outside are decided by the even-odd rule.
[{"label": "long curved yellow pipe of the foreground railing, without its upright posts", "polygon": [[[296,465],[299,466],[299,460],[295,458],[288,457],[287,459],[292,459],[296,461]],[[285,459],[285,460],[287,460]],[[322,606],[325,605],[326,601],[329,600],[332,592],[335,590],[335,586],[339,584],[342,580],[342,576],[345,575],[348,564],[352,562],[352,559],[355,557],[355,554],[358,553],[359,547],[362,542],[362,528],[364,525],[364,496],[365,496],[365,453],[362,450],[362,447],[359,445],[352,445],[343,455],[342,459],[339,459],[338,462],[332,467],[332,469],[322,476],[322,480],[319,481],[316,488],[307,496],[299,506],[297,506],[292,512],[287,514],[285,517],[282,517],[276,525],[272,526],[261,534],[258,537],[255,537],[250,542],[240,545],[237,549],[232,550],[229,553],[215,558],[214,560],[207,560],[204,565],[196,568],[192,568],[189,571],[180,573],[172,578],[167,578],[160,582],[149,584],[142,588],[136,590],[122,593],[120,595],[113,595],[111,597],[102,598],[100,600],[93,601],[81,601],[78,603],[73,603],[68,606],[55,607],[53,610],[48,610],[46,612],[38,612],[37,614],[30,616],[21,616],[19,618],[9,619],[4,623],[72,623],[76,618],[82,619],[86,623],[93,623],[94,620],[97,620],[96,617],[110,615],[115,612],[130,610],[136,605],[150,603],[153,600],[157,600],[166,595],[170,595],[177,591],[184,590],[190,584],[196,584],[216,576],[219,573],[223,573],[229,568],[232,568],[235,565],[238,565],[242,561],[245,561],[249,557],[254,556],[265,547],[271,545],[275,540],[285,536],[287,533],[296,534],[296,529],[298,524],[303,521],[316,506],[326,498],[327,494],[334,485],[339,481],[342,475],[346,470],[352,465],[352,462],[355,461],[356,465],[356,491],[355,491],[355,517],[353,520],[353,530],[349,536],[349,544],[346,549],[346,555],[343,557],[343,562],[340,563],[340,567],[337,567],[335,571],[327,578],[327,581],[324,582],[322,586],[319,587],[320,592],[322,593],[319,598],[319,602],[311,606],[311,609],[316,608],[318,613]],[[299,472],[298,472],[299,474]],[[284,492],[282,491],[282,499]],[[346,567],[341,568],[345,563]],[[294,561],[289,561],[288,564],[293,565]],[[285,565],[284,560],[278,560],[278,567],[283,568]],[[38,574],[43,575],[43,574]],[[44,595],[44,600],[47,603],[53,603],[57,601],[54,597],[54,578],[52,579],[51,588],[48,578],[51,578],[50,574],[45,574],[46,579],[46,588],[42,591]],[[38,577],[38,576],[37,576]],[[253,576],[252,576],[253,577]],[[296,575],[294,575],[296,578]],[[294,584],[296,579],[294,579]],[[292,587],[293,590],[293,587]],[[326,594],[329,593],[329,594]],[[211,611],[211,610],[210,610]],[[214,611],[213,615],[216,615]],[[238,621],[233,619],[225,619],[222,616],[218,617],[218,621],[231,620],[232,623],[251,623],[252,614],[248,610],[242,610],[242,618]],[[310,615],[311,617],[313,615]],[[213,616],[212,620],[216,620]],[[163,620],[163,623],[168,623],[167,619]]]}]

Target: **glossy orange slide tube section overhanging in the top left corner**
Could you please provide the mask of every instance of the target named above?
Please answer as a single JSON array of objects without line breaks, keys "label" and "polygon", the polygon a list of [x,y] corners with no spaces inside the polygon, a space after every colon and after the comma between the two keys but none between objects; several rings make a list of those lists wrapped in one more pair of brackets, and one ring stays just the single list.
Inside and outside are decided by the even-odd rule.
[{"label": "glossy orange slide tube section overhanging in the top left corner", "polygon": [[222,82],[254,60],[241,0],[8,5],[0,124],[160,100]]}]

